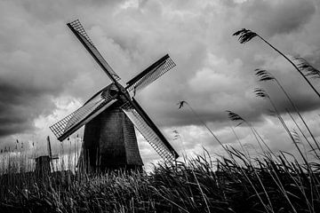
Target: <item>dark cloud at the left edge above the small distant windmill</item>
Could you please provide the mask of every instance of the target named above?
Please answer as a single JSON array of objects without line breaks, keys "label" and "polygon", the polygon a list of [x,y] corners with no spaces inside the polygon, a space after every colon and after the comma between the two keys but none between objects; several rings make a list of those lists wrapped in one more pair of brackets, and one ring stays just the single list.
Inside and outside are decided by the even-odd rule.
[{"label": "dark cloud at the left edge above the small distant windmill", "polygon": [[34,119],[39,114],[50,114],[54,108],[51,99],[44,94],[42,88],[0,80],[0,138],[34,130]]}]

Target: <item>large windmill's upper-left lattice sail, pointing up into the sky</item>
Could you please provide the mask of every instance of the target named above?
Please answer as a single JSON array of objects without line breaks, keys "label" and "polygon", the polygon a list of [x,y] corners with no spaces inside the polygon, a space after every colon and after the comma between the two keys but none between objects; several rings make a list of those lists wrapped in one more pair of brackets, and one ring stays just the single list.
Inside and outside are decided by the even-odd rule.
[{"label": "large windmill's upper-left lattice sail, pointing up into the sky", "polygon": [[113,82],[119,81],[120,77],[116,75],[116,72],[108,65],[108,62],[105,59],[103,59],[100,52],[92,43],[92,40],[90,39],[90,37],[86,34],[80,21],[74,20],[68,23],[67,25],[68,25],[68,28],[70,28],[71,31],[76,35],[79,41],[84,44],[85,49],[90,52],[93,59],[95,59],[98,62],[100,67],[103,69],[104,72],[106,72],[109,78]]}]

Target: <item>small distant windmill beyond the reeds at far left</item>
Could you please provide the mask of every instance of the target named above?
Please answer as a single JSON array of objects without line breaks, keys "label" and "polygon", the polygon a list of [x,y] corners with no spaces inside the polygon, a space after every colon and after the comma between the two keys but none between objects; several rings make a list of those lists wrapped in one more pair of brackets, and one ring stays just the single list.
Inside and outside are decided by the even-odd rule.
[{"label": "small distant windmill beyond the reeds at far left", "polygon": [[39,176],[44,176],[49,174],[51,172],[50,164],[52,165],[52,169],[53,169],[52,160],[59,159],[57,154],[52,155],[52,147],[51,147],[49,136],[47,137],[47,151],[48,151],[48,154],[36,157],[35,173]]}]

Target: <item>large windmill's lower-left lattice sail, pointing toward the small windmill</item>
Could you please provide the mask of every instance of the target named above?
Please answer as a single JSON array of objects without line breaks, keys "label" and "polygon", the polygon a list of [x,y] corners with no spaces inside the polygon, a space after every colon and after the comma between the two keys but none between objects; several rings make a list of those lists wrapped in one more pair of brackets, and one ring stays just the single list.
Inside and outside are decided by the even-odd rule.
[{"label": "large windmill's lower-left lattice sail, pointing toward the small windmill", "polygon": [[89,99],[84,106],[81,106],[72,114],[68,114],[60,122],[53,124],[50,130],[60,141],[68,138],[69,135],[116,102],[115,97],[104,95],[104,90],[101,90],[92,99]]}]

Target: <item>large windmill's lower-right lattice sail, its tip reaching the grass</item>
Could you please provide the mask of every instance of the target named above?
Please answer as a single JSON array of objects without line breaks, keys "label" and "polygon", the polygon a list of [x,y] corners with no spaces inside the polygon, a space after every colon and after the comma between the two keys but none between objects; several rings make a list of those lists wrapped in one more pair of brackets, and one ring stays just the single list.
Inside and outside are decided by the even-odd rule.
[{"label": "large windmill's lower-right lattice sail, its tip reaching the grass", "polygon": [[171,162],[179,157],[164,135],[157,129],[156,124],[151,121],[138,102],[132,99],[132,104],[127,102],[122,107],[124,113],[129,117],[134,126],[146,138],[148,143],[156,150],[164,161]]}]

